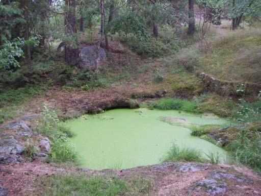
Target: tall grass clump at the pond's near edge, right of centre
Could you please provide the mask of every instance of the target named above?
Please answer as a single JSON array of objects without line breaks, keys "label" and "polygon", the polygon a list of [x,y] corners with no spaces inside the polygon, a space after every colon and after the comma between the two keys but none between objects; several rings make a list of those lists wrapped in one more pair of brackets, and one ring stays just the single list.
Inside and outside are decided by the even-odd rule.
[{"label": "tall grass clump at the pond's near edge, right of centre", "polygon": [[180,148],[175,143],[172,144],[167,154],[161,159],[161,162],[172,161],[195,161],[202,162],[200,151],[189,147]]}]

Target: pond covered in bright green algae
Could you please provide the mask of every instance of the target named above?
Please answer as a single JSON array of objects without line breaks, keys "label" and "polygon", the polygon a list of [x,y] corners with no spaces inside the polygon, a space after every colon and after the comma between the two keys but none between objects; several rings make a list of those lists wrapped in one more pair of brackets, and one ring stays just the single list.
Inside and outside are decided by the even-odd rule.
[{"label": "pond covered in bright green algae", "polygon": [[157,164],[173,142],[198,149],[202,154],[215,152],[225,157],[218,146],[191,136],[184,126],[173,126],[159,118],[180,119],[198,125],[223,124],[224,119],[178,111],[114,109],[103,114],[84,115],[68,121],[76,134],[71,139],[81,158],[81,166],[91,169],[131,168]]}]

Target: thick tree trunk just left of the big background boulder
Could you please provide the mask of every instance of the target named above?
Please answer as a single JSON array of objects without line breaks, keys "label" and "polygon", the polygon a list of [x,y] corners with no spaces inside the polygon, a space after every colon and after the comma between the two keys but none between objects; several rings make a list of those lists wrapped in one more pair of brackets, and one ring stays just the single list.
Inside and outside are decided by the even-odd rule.
[{"label": "thick tree trunk just left of the big background boulder", "polygon": [[[73,36],[73,33],[77,33],[77,23],[75,16],[75,1],[65,0],[66,12],[65,12],[65,33],[69,36]],[[73,64],[79,57],[79,51],[77,48],[73,48],[71,45],[65,46],[65,61],[68,65]]]}]

